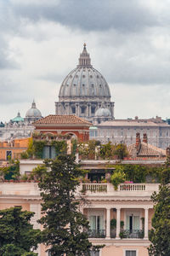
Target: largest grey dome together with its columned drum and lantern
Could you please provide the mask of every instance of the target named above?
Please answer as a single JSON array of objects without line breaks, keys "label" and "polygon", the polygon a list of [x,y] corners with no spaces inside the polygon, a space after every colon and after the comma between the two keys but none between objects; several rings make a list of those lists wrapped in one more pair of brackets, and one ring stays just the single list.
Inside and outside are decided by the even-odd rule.
[{"label": "largest grey dome together with its columned drum and lantern", "polygon": [[65,77],[60,86],[59,102],[55,102],[55,113],[75,114],[93,122],[99,108],[106,108],[109,119],[114,118],[114,102],[111,102],[109,85],[103,75],[91,65],[84,44],[79,64]]}]

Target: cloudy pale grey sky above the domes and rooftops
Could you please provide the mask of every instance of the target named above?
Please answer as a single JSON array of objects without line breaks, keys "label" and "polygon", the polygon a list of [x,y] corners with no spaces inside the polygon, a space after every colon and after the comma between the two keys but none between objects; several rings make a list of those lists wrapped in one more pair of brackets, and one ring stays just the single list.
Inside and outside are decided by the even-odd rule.
[{"label": "cloudy pale grey sky above the domes and rooftops", "polygon": [[0,121],[54,113],[87,44],[115,118],[170,118],[170,0],[0,0]]}]

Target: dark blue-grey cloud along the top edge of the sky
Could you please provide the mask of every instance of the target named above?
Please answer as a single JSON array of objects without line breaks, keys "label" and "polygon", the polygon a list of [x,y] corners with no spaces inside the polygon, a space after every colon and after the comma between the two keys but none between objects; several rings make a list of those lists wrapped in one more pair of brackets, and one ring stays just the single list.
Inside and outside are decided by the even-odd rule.
[{"label": "dark blue-grey cloud along the top edge of the sky", "polygon": [[65,26],[86,31],[115,28],[122,32],[137,32],[144,26],[155,26],[156,16],[140,1],[131,0],[64,0],[52,4],[11,3],[15,15],[34,21],[53,20]]}]

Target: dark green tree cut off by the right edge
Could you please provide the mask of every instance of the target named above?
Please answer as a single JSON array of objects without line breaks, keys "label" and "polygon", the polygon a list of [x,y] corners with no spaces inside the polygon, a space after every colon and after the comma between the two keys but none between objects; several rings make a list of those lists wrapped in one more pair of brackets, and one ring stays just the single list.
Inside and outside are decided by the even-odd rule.
[{"label": "dark green tree cut off by the right edge", "polygon": [[151,245],[148,249],[152,256],[170,255],[170,186],[163,184],[160,186],[159,193],[151,196],[154,202],[154,216],[152,218],[152,227],[149,239]]}]

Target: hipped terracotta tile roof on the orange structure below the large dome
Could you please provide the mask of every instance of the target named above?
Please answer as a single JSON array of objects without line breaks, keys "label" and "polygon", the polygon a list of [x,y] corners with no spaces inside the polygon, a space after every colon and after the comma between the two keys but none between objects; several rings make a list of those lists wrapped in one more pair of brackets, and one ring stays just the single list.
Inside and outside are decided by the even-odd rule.
[{"label": "hipped terracotta tile roof on the orange structure below the large dome", "polygon": [[45,118],[37,120],[33,125],[89,125],[87,120],[77,117],[73,114],[49,114]]}]

